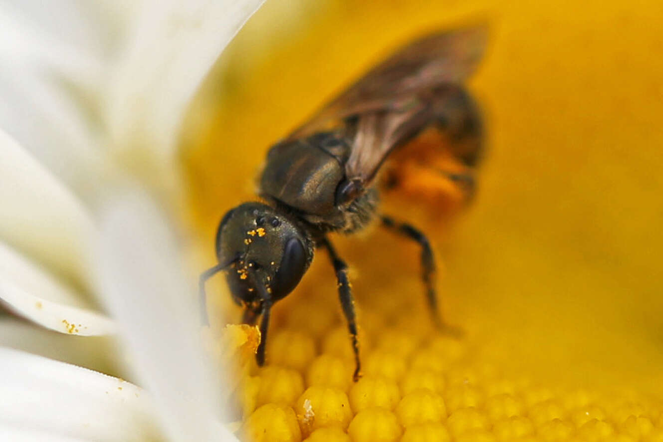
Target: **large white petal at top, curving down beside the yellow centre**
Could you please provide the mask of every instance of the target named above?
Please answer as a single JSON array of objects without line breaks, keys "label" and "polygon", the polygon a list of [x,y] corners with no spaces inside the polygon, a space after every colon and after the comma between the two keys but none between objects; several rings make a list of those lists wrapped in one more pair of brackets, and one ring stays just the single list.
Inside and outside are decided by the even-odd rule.
[{"label": "large white petal at top, curving down beside the yellow centre", "polygon": [[115,144],[168,160],[192,95],[263,1],[146,1],[111,76],[107,115]]}]

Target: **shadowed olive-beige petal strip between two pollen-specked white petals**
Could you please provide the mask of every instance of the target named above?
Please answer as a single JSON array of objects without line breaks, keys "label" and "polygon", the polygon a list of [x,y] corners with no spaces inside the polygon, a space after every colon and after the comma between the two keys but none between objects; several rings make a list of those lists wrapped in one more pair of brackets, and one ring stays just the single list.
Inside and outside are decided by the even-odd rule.
[{"label": "shadowed olive-beige petal strip between two pollen-specked white petals", "polygon": [[7,315],[0,317],[0,347],[20,349],[91,370],[126,376],[121,369],[126,361],[117,343],[110,337],[70,337]]}]

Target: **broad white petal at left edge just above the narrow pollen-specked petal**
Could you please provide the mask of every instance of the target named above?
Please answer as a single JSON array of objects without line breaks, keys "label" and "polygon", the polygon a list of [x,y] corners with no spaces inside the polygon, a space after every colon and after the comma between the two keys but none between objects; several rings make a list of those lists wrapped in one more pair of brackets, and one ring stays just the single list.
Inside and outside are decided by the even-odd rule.
[{"label": "broad white petal at left edge just above the narrow pollen-specked petal", "polygon": [[61,182],[0,129],[0,240],[85,284],[94,227]]}]

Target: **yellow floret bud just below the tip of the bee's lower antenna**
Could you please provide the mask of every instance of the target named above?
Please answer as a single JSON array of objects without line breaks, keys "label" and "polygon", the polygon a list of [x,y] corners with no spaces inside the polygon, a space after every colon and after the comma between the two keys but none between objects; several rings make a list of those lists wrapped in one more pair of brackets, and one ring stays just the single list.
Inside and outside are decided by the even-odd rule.
[{"label": "yellow floret bud just below the tip of the bee's lower antenna", "polygon": [[304,392],[302,375],[292,368],[268,366],[259,372],[259,377],[258,406],[269,402],[283,402],[293,406]]}]

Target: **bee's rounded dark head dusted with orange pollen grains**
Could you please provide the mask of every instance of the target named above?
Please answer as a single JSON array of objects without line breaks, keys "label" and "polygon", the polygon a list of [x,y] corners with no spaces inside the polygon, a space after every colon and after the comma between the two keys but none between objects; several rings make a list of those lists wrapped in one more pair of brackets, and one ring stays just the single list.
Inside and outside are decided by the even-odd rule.
[{"label": "bee's rounded dark head dusted with orange pollen grains", "polygon": [[216,235],[219,262],[238,304],[280,300],[297,286],[313,258],[312,241],[284,213],[243,203],[225,214]]}]

